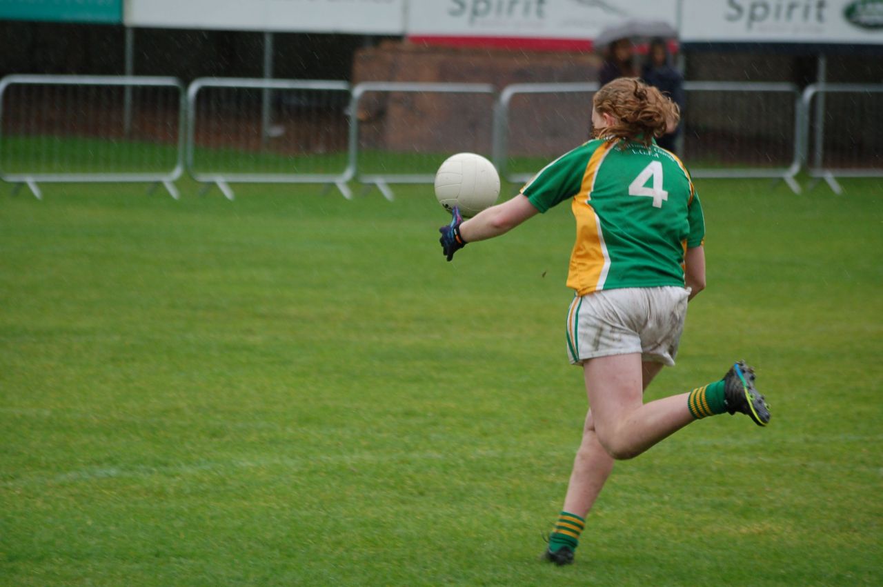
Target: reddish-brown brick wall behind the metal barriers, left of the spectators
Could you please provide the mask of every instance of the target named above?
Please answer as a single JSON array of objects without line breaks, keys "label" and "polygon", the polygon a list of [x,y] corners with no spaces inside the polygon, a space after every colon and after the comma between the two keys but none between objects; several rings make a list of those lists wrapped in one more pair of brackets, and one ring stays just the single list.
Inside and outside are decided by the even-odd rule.
[{"label": "reddish-brown brick wall behind the metal barriers, left of the spectators", "polygon": [[[353,83],[362,81],[489,83],[496,90],[516,83],[585,82],[598,78],[600,57],[581,53],[516,52],[424,47],[387,41],[359,49]],[[366,94],[358,109],[360,142],[366,148],[399,151],[489,153],[494,99],[483,95]],[[513,104],[515,106],[515,104]],[[586,139],[591,105],[585,96],[555,106],[532,100],[513,108],[512,154],[549,152],[550,136]],[[541,132],[530,129],[541,127]]]}]

